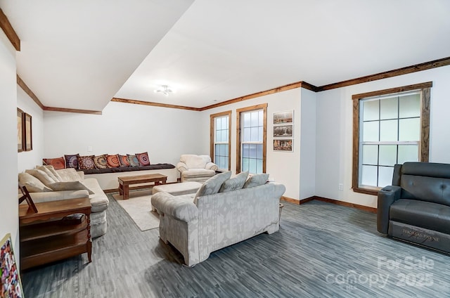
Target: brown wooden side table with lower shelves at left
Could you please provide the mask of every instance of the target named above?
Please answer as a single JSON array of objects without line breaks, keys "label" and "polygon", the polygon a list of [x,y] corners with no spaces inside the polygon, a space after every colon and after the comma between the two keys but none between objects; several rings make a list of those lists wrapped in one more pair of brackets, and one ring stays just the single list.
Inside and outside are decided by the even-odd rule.
[{"label": "brown wooden side table with lower shelves at left", "polygon": [[[38,212],[19,205],[20,269],[59,261],[87,252],[92,254],[91,202],[89,197],[41,202]],[[79,223],[63,220],[70,214],[85,214]]]}]

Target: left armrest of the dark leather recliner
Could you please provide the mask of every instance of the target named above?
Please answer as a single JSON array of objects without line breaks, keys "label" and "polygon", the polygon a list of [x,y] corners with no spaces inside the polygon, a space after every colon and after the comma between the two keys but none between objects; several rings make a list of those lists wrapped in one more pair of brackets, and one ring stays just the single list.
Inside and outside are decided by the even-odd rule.
[{"label": "left armrest of the dark leather recliner", "polygon": [[377,230],[387,234],[389,228],[389,210],[393,202],[400,198],[400,186],[386,186],[378,191]]}]

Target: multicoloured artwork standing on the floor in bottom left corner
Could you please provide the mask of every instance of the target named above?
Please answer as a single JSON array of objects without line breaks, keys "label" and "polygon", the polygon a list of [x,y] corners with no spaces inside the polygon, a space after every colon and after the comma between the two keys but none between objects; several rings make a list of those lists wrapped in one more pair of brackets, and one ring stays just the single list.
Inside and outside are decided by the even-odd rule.
[{"label": "multicoloured artwork standing on the floor in bottom left corner", "polygon": [[0,242],[0,276],[0,297],[23,297],[22,282],[10,233]]}]

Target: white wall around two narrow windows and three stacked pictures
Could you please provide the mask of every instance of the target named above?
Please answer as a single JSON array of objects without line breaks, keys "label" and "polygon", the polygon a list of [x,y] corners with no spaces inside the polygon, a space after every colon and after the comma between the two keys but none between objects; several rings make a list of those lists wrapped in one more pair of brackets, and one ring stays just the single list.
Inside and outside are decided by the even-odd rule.
[{"label": "white wall around two narrow windows and three stacked pictures", "polygon": [[[210,154],[210,115],[231,110],[231,171],[236,172],[236,109],[267,103],[266,173],[270,175],[269,179],[274,179],[286,186],[284,194],[286,197],[299,200],[301,95],[300,89],[291,89],[203,111],[201,122],[203,127],[201,134],[203,136],[201,140],[203,151]],[[294,149],[292,153],[273,150],[274,112],[286,110],[294,110]]]}]

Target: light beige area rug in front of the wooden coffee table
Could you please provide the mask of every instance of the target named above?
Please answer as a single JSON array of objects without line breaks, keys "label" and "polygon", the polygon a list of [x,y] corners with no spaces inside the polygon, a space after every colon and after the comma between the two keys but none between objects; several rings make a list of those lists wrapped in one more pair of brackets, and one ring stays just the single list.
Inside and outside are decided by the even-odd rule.
[{"label": "light beige area rug in front of the wooden coffee table", "polygon": [[122,195],[114,193],[113,197],[128,215],[133,219],[136,226],[141,231],[147,231],[160,226],[160,216],[157,212],[152,212],[151,194],[148,190],[132,191],[129,193],[129,200],[122,200]]}]

